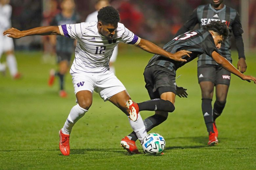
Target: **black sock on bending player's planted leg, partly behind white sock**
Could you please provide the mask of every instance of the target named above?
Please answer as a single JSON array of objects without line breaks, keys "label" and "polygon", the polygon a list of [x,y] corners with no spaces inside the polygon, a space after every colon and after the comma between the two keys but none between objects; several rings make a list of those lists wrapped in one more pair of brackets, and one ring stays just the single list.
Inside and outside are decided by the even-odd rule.
[{"label": "black sock on bending player's planted leg, partly behind white sock", "polygon": [[[163,123],[166,119],[167,119],[167,117],[161,116],[159,114],[154,114],[153,116],[150,116],[150,117],[146,118],[145,120],[143,120],[143,123],[148,132],[153,127],[156,127],[156,126],[160,125],[161,123]],[[128,136],[132,137],[132,139],[131,139],[132,141],[136,141],[138,139],[138,137],[136,136],[136,133],[134,131],[131,134],[129,134]]]}]

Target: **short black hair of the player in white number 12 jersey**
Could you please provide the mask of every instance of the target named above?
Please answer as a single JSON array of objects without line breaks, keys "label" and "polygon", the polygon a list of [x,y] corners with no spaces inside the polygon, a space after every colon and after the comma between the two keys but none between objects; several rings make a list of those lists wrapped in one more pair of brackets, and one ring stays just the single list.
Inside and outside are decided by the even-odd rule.
[{"label": "short black hair of the player in white number 12 jersey", "polygon": [[107,6],[103,7],[98,11],[97,15],[98,21],[103,22],[102,24],[113,24],[117,25],[120,21],[120,16],[117,9]]}]

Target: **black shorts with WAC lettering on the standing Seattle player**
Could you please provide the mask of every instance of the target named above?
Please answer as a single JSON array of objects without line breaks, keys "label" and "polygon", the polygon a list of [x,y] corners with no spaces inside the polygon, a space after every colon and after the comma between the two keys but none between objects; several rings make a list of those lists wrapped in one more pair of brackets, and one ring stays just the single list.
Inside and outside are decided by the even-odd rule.
[{"label": "black shorts with WAC lettering on the standing Seattle player", "polygon": [[197,68],[198,83],[211,81],[216,84],[226,84],[229,86],[231,73],[220,65],[204,64]]}]

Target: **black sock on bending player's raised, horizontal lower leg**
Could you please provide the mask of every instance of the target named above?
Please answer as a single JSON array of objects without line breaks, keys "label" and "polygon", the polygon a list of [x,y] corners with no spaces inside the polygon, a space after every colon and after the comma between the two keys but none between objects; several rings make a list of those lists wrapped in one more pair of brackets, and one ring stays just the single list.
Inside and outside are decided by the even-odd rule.
[{"label": "black sock on bending player's raised, horizontal lower leg", "polygon": [[149,111],[167,111],[173,112],[175,110],[172,102],[163,99],[153,99],[145,102],[137,103],[139,106],[139,111],[149,110]]}]

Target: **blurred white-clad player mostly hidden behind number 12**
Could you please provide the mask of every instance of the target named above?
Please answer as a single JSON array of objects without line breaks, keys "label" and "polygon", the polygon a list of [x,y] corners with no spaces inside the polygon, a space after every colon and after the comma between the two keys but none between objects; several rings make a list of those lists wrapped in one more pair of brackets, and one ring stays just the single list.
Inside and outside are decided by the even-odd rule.
[{"label": "blurred white-clad player mostly hidden behind number 12", "polygon": [[[95,4],[95,9],[96,11],[90,13],[86,19],[85,22],[92,22],[92,21],[98,21],[97,15],[98,15],[98,10],[100,10],[103,7],[106,7],[110,5],[108,0],[98,0],[97,3]],[[114,67],[114,62],[117,60],[117,52],[118,52],[118,45],[115,47],[112,56],[109,60],[109,68],[111,71],[114,72],[115,74],[115,67]]]}]

